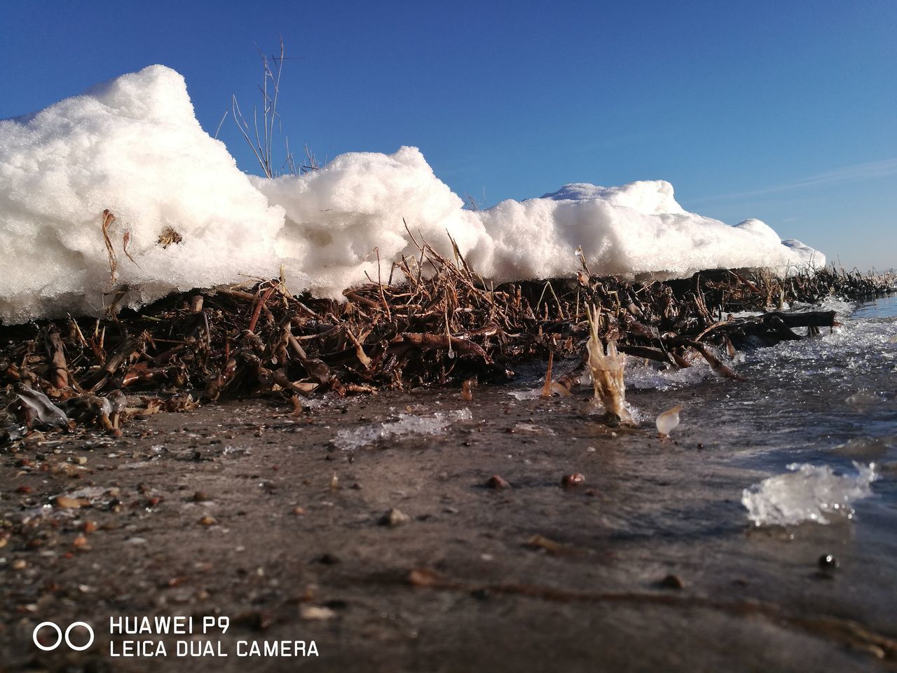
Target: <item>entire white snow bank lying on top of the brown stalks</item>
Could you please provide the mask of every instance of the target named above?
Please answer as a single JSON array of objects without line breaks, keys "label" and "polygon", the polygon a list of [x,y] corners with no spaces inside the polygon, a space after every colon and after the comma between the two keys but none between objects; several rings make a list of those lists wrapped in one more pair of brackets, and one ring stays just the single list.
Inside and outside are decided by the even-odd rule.
[{"label": "entire white snow bank lying on top of the brown stalks", "polygon": [[[99,314],[127,289],[138,306],[174,291],[272,277],[341,297],[416,249],[450,256],[446,232],[497,281],[570,275],[581,246],[594,272],[687,276],[704,268],[824,264],[758,220],[728,226],[686,212],[663,180],[566,185],[479,212],[438,179],[420,150],[347,153],[301,176],[242,173],[196,121],[184,78],[150,66],[81,96],[0,121],[0,320]],[[101,213],[118,255],[113,284]],[[177,232],[163,247],[160,236]],[[124,235],[127,233],[127,253]]]}]

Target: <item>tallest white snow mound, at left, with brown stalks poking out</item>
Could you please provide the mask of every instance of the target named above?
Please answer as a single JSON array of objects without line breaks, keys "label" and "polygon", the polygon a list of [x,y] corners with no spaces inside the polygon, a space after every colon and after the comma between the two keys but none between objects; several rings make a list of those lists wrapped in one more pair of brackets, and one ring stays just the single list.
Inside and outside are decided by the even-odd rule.
[{"label": "tallest white snow mound, at left, with brown stalks poking out", "polygon": [[[151,66],[0,121],[0,319],[96,314],[110,302],[104,208],[132,304],[276,275],[271,207],[196,121],[184,78]],[[182,237],[163,249],[167,228]],[[128,232],[126,258],[123,236]]]}]

